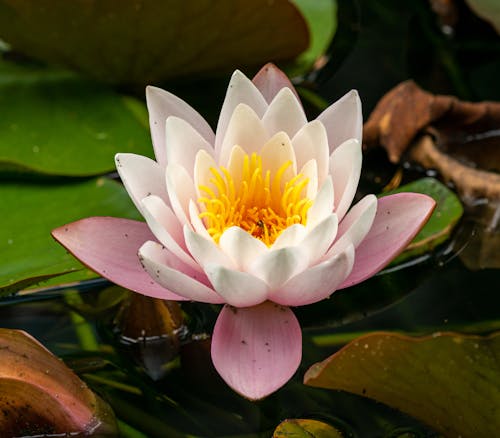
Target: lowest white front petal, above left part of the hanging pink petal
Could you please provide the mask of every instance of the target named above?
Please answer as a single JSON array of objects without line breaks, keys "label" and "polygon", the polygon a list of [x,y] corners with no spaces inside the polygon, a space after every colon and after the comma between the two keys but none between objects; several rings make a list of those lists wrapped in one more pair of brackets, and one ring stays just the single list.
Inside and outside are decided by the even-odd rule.
[{"label": "lowest white front petal, above left part of the hanging pink petal", "polygon": [[207,265],[205,272],[217,293],[232,306],[256,306],[267,299],[267,284],[247,272],[213,264]]}]

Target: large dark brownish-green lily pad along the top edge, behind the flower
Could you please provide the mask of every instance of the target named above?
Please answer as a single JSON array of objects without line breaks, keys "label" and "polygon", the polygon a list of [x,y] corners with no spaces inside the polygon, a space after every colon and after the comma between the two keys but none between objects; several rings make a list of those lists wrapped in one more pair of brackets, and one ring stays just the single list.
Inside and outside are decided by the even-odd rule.
[{"label": "large dark brownish-green lily pad along the top edge, behind the flower", "polygon": [[309,43],[288,0],[1,0],[0,29],[27,55],[140,85],[292,59]]}]

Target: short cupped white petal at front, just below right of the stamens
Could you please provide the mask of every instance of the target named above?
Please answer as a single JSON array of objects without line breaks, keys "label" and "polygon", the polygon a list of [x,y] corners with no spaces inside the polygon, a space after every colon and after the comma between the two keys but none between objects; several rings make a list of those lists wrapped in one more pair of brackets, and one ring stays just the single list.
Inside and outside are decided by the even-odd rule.
[{"label": "short cupped white petal at front, just below right of the stamens", "polygon": [[264,280],[272,290],[303,271],[306,266],[307,257],[299,247],[280,248],[257,259],[250,272]]}]

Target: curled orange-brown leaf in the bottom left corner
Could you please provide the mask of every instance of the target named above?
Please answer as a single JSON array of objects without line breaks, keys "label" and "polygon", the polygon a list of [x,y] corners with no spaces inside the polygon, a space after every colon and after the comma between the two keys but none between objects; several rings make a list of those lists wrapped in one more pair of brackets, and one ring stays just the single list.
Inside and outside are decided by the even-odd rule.
[{"label": "curled orange-brown leaf in the bottom left corner", "polygon": [[0,329],[1,436],[116,436],[113,412],[34,338]]}]

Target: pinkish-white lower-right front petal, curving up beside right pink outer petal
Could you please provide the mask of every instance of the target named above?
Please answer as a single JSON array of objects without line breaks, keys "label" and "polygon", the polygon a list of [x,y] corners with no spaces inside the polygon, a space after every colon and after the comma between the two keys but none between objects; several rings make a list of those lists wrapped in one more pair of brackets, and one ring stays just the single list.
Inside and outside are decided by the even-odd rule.
[{"label": "pinkish-white lower-right front petal, curving up beside right pink outer petal", "polygon": [[269,294],[269,299],[284,306],[304,306],[328,298],[351,272],[354,247],[331,259],[306,269],[292,277],[281,288]]}]

